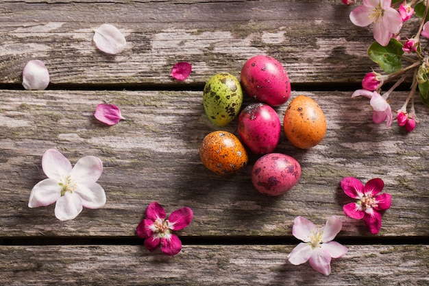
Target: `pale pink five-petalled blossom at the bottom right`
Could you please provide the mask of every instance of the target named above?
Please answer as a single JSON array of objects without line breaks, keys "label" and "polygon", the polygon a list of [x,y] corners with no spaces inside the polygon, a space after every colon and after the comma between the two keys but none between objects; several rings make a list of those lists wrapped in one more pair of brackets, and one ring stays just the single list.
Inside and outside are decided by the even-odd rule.
[{"label": "pale pink five-petalled blossom at the bottom right", "polygon": [[331,272],[331,259],[342,257],[347,248],[332,241],[343,227],[337,217],[329,217],[326,226],[318,229],[304,217],[295,217],[292,234],[304,242],[299,243],[288,255],[289,262],[299,265],[308,261],[310,266],[324,275]]}]

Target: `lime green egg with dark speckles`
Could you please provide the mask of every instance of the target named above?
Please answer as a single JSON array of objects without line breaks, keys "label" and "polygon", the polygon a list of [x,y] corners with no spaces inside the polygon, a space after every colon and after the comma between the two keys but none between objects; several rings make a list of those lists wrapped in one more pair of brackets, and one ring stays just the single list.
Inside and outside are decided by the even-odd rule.
[{"label": "lime green egg with dark speckles", "polygon": [[227,125],[238,115],[243,104],[240,82],[230,73],[213,75],[204,86],[203,104],[213,124]]}]

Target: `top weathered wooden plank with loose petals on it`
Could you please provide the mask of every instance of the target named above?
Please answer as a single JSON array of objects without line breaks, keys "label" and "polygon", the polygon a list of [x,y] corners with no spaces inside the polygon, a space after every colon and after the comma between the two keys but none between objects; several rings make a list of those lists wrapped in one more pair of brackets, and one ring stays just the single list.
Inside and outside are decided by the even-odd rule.
[{"label": "top weathered wooden plank with loose petals on it", "polygon": [[[51,87],[177,84],[169,73],[182,60],[193,64],[184,84],[203,84],[223,71],[238,76],[260,53],[282,62],[296,84],[358,84],[376,68],[366,56],[371,29],[352,25],[341,1],[46,2],[0,1],[1,83],[20,84],[33,58],[47,65]],[[127,39],[117,56],[92,42],[102,23]],[[404,34],[417,26],[408,22]]]}]

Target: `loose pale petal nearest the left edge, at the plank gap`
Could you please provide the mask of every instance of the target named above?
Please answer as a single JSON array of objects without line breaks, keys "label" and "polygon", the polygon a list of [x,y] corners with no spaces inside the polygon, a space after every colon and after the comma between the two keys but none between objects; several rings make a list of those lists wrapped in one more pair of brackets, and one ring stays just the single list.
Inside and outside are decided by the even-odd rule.
[{"label": "loose pale petal nearest the left edge, at the plank gap", "polygon": [[49,72],[40,60],[30,60],[23,69],[23,86],[27,90],[42,91],[49,85]]}]

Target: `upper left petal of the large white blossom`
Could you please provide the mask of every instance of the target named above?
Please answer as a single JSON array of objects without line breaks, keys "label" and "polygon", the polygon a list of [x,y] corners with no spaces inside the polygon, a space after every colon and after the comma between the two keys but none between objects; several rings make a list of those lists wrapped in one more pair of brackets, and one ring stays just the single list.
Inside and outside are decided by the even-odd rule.
[{"label": "upper left petal of the large white blossom", "polygon": [[70,161],[60,152],[49,149],[42,156],[42,169],[48,178],[59,181],[63,176],[70,173],[72,166]]}]

